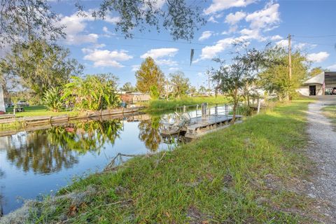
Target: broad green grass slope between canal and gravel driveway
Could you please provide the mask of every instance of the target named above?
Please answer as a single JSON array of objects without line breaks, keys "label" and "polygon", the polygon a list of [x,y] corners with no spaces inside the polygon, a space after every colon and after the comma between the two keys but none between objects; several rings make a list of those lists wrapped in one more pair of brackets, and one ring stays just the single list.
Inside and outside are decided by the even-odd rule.
[{"label": "broad green grass slope between canal and gravel driveway", "polygon": [[[276,106],[174,151],[131,159],[116,172],[60,190],[35,223],[314,223],[313,200],[294,193],[309,175],[302,155],[308,100]],[[307,212],[309,211],[309,212]]]}]

